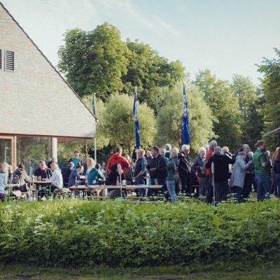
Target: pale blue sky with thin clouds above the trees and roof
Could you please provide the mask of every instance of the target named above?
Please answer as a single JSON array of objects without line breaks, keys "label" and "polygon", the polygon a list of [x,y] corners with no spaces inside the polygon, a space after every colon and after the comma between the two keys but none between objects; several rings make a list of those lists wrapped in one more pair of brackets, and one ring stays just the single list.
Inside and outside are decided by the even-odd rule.
[{"label": "pale blue sky with thin clouds above the trees and roof", "polygon": [[[139,39],[170,61],[179,59],[194,78],[210,69],[260,83],[255,64],[280,48],[279,0],[0,0],[57,66],[67,29],[118,27],[123,40]],[[1,39],[1,38],[0,38]]]}]

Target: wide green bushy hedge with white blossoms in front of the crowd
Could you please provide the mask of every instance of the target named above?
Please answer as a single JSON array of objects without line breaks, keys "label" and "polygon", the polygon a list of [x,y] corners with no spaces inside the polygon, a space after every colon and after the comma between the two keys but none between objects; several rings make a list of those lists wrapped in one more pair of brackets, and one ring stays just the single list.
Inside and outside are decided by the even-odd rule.
[{"label": "wide green bushy hedge with white blossoms in front of the crowd", "polygon": [[143,266],[275,258],[280,202],[0,204],[1,262]]}]

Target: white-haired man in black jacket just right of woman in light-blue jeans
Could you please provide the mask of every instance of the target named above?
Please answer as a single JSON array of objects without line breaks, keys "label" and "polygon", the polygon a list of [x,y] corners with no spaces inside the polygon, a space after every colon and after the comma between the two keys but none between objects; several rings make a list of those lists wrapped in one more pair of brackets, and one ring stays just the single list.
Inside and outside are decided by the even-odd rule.
[{"label": "white-haired man in black jacket just right of woman in light-blue jeans", "polygon": [[190,186],[190,176],[191,176],[191,163],[190,157],[188,154],[190,153],[190,146],[183,145],[182,151],[179,153],[179,177],[181,179],[182,184],[182,193],[186,193],[188,196],[191,195],[191,186]]}]

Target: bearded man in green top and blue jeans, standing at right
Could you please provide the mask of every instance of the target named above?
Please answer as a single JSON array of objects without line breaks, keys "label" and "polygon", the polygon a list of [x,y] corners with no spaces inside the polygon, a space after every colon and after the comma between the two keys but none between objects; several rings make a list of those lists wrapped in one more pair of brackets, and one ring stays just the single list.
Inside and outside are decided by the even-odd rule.
[{"label": "bearded man in green top and blue jeans, standing at right", "polygon": [[257,150],[253,154],[253,165],[255,168],[255,176],[258,184],[258,202],[269,199],[270,193],[270,161],[269,157],[265,157],[266,145],[264,141],[258,141],[255,144]]}]

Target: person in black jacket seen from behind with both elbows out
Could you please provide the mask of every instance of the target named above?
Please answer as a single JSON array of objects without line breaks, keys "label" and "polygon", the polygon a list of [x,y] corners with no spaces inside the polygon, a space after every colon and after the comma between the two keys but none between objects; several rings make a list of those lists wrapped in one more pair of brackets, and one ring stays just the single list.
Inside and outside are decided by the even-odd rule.
[{"label": "person in black jacket seen from behind with both elbows out", "polygon": [[206,168],[211,168],[212,162],[214,162],[215,200],[216,203],[221,203],[222,197],[227,197],[230,193],[230,188],[228,186],[228,165],[233,165],[235,163],[235,157],[230,158],[222,152],[220,146],[216,146],[214,154],[209,158],[206,164]]}]

